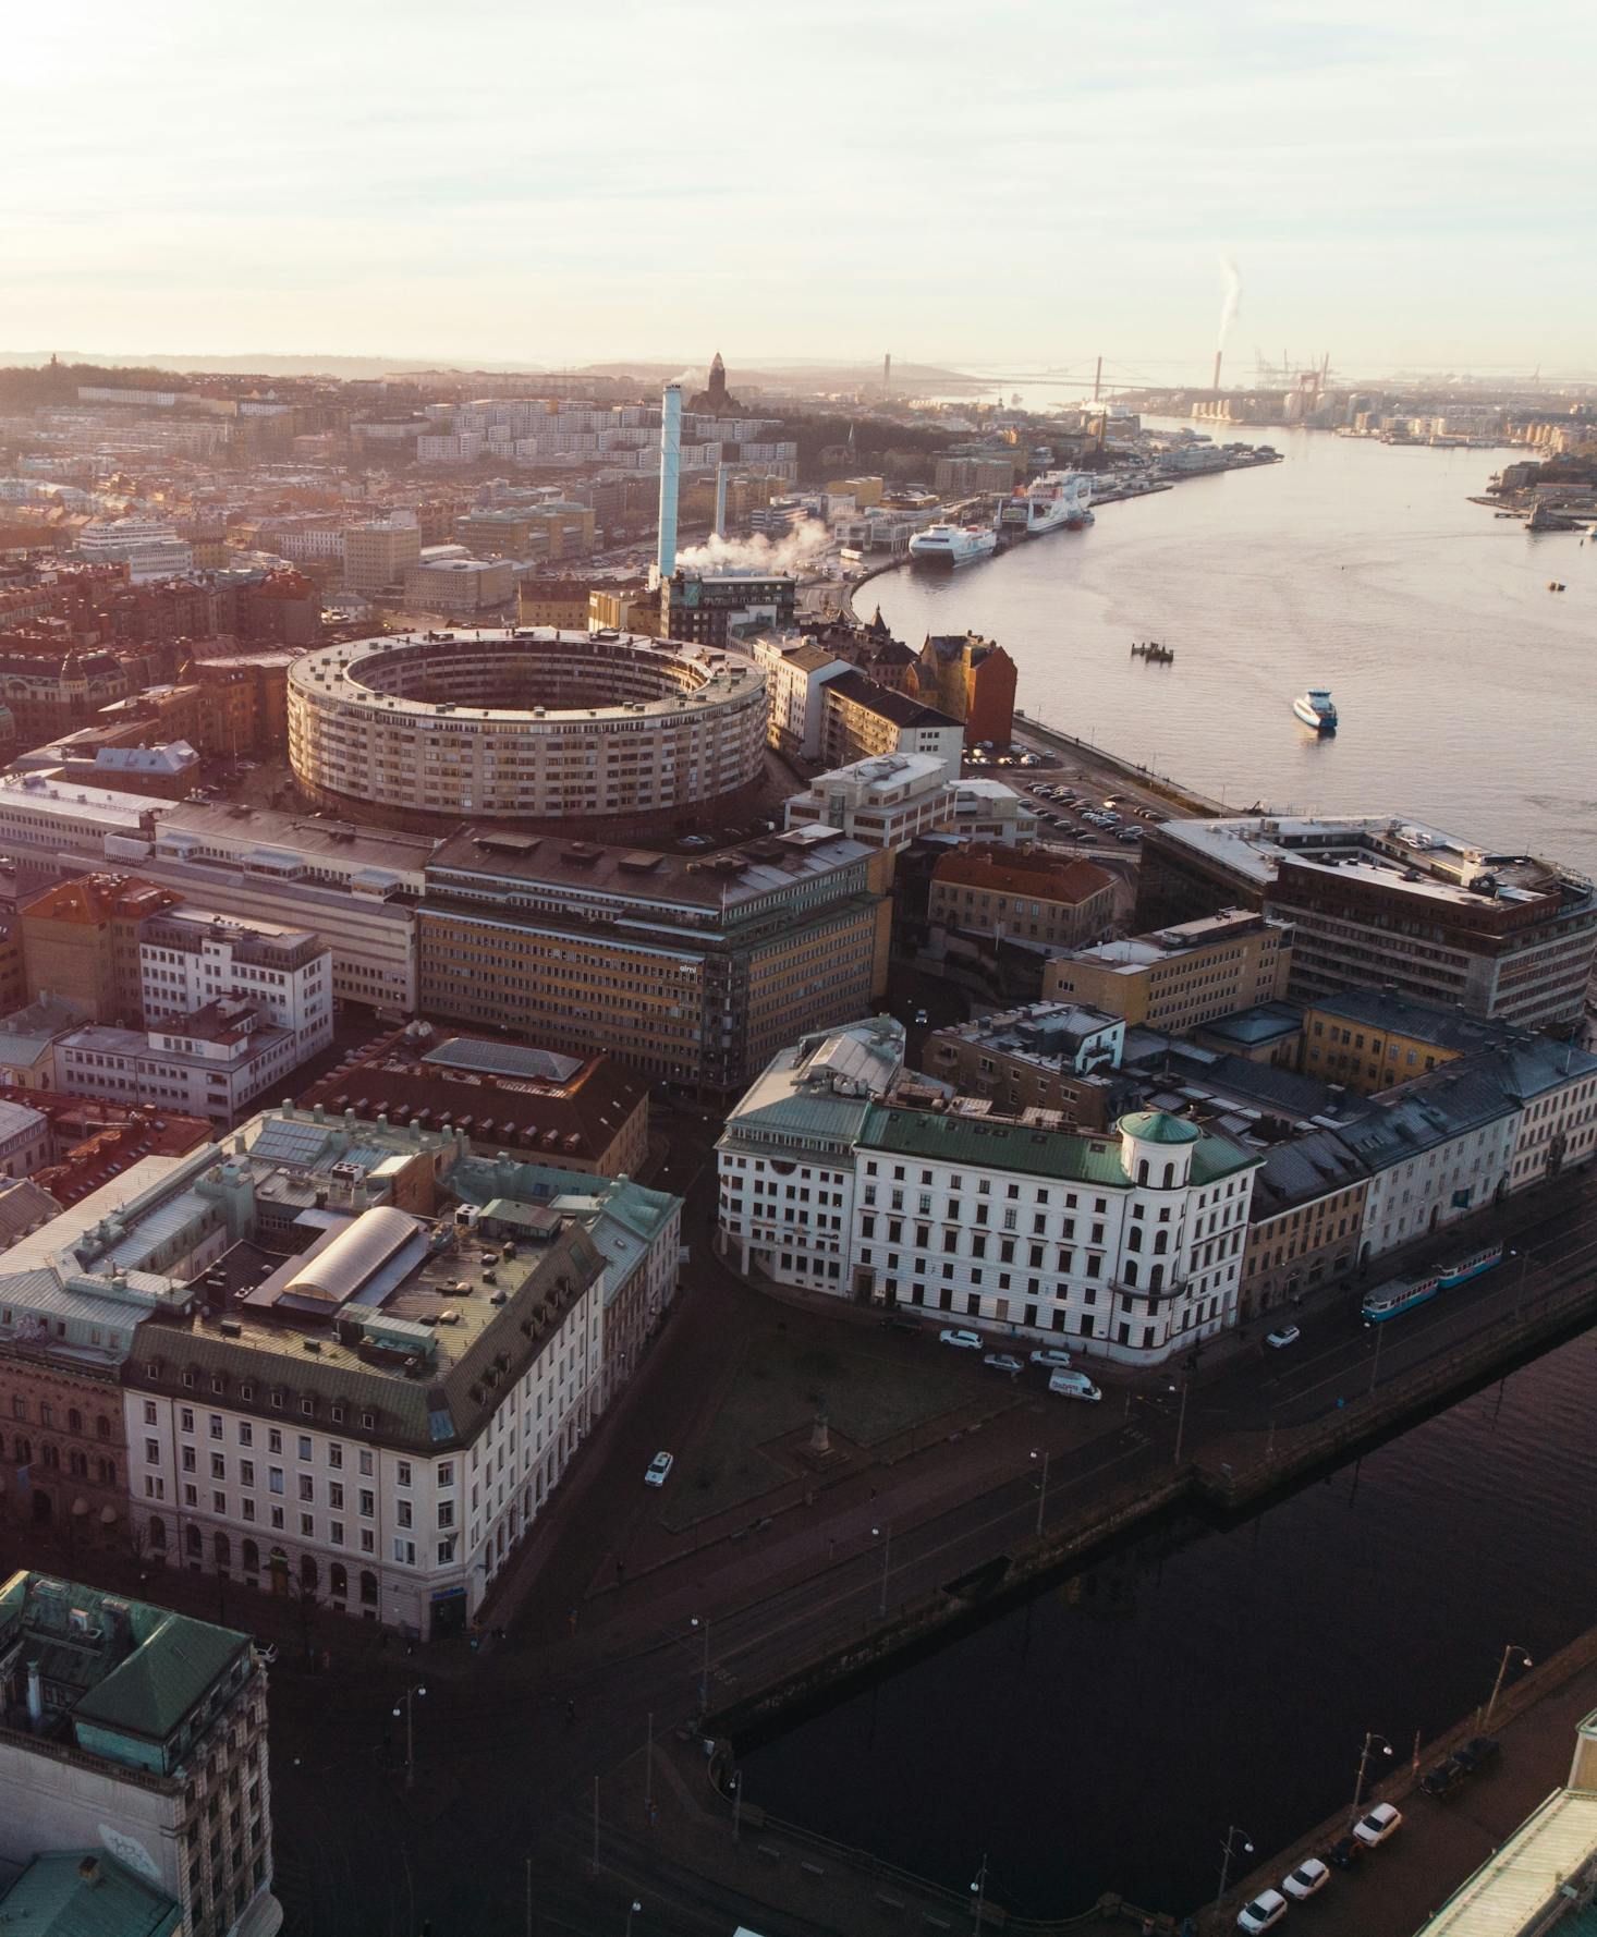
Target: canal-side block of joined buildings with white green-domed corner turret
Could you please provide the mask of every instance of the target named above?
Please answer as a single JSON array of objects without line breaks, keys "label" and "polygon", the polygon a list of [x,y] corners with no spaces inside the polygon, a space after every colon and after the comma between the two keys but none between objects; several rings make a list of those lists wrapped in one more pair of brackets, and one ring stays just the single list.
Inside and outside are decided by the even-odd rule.
[{"label": "canal-side block of joined buildings with white green-domed corner turret", "polygon": [[[1096,1094],[1111,1127],[1067,1123],[1051,1098],[1003,1108],[906,1077],[881,1019],[817,1034],[728,1118],[722,1251],[780,1284],[1150,1364],[1597,1154],[1597,1058],[1543,1038],[1504,1032],[1353,1098],[1047,1007],[997,1019],[1020,1030],[1010,1054],[1040,1085],[1051,1065]],[[1190,1145],[1179,1174],[1146,1149],[1146,1122],[1152,1141]],[[1156,1218],[1138,1195],[1144,1162],[1165,1193]],[[1154,1228],[1138,1257],[1150,1222],[1165,1236]]]}]

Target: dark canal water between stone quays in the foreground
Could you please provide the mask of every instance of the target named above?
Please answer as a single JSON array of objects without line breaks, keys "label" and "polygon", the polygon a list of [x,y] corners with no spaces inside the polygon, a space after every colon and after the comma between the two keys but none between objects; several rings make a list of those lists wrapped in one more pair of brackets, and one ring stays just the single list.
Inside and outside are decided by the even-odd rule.
[{"label": "dark canal water between stone quays in the foreground", "polygon": [[[745,1794],[952,1889],[1051,1916],[1189,1910],[1235,1823],[1264,1856],[1597,1610],[1583,1337],[1216,1532],[1150,1534],[745,1757]],[[1390,1767],[1390,1765],[1384,1765]]]}]

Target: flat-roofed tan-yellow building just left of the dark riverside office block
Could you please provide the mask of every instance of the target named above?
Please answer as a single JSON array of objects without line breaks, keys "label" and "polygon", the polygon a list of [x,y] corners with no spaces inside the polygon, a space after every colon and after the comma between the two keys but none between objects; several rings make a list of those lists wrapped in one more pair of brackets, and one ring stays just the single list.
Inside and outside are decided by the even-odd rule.
[{"label": "flat-roofed tan-yellow building just left of the dark riverside office block", "polygon": [[1043,999],[1084,1001],[1129,1027],[1179,1036],[1237,1009],[1280,1001],[1289,970],[1289,928],[1221,908],[1200,922],[1057,955],[1043,967]]}]

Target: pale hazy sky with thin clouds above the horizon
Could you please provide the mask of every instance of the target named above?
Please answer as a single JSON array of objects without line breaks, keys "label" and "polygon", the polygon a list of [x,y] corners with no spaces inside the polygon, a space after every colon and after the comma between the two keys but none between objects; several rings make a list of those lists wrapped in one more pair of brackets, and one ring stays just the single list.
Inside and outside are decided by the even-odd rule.
[{"label": "pale hazy sky with thin clouds above the horizon", "polygon": [[1597,366],[1589,0],[52,0],[0,349]]}]

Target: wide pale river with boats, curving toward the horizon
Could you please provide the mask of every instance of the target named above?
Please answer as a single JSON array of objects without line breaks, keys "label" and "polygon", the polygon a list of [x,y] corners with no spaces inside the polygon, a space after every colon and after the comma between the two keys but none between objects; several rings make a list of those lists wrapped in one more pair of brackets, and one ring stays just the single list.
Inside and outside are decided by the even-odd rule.
[{"label": "wide pale river with boats, curving toward the horizon", "polygon": [[[1403,812],[1597,870],[1597,540],[1469,504],[1514,451],[1237,436],[1285,461],[952,575],[889,573],[859,606],[916,647],[999,639],[1030,713],[1227,804]],[[1134,639],[1175,662],[1132,659]],[[1291,715],[1311,684],[1332,688],[1334,740]]]}]

